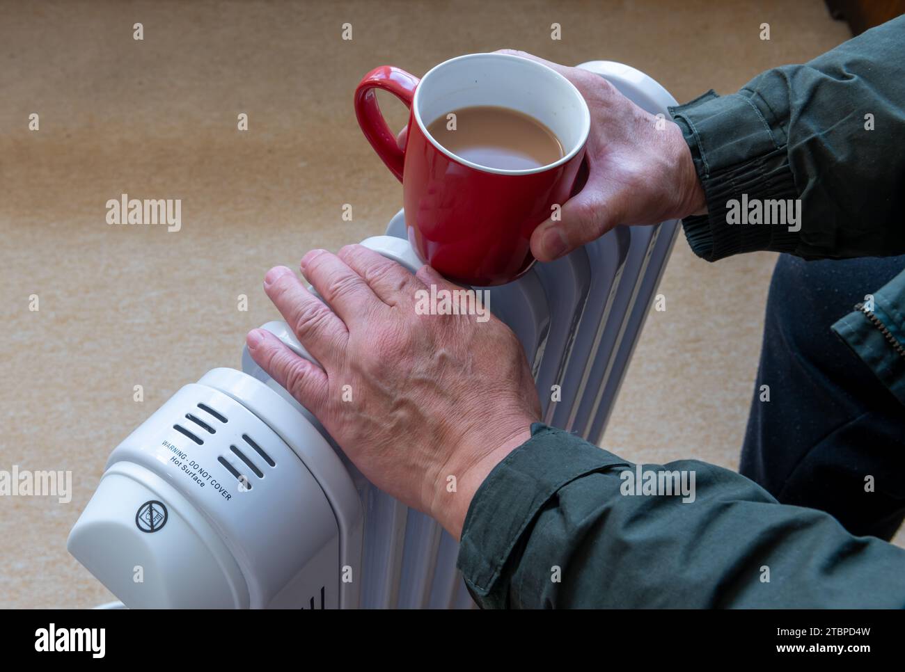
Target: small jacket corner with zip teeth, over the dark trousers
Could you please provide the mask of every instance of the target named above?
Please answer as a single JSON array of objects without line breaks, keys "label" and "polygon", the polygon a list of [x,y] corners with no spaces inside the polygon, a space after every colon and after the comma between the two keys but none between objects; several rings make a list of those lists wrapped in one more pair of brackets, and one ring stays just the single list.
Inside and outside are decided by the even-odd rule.
[{"label": "small jacket corner with zip teeth, over the dark trousers", "polygon": [[905,404],[905,317],[882,292],[881,289],[874,296],[873,310],[869,313],[855,310],[832,329],[896,399]]}]

